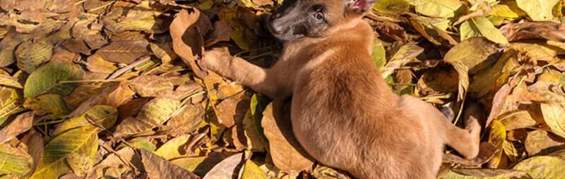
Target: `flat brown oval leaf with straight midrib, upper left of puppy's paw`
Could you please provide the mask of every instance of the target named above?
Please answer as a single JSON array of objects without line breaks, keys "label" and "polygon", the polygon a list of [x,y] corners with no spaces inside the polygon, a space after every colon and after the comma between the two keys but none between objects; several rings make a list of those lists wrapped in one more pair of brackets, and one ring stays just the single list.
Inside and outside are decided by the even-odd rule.
[{"label": "flat brown oval leaf with straight midrib, upper left of puppy's paw", "polygon": [[149,42],[145,40],[134,41],[114,41],[96,51],[106,61],[116,63],[133,63],[141,56],[150,54],[148,51]]}]

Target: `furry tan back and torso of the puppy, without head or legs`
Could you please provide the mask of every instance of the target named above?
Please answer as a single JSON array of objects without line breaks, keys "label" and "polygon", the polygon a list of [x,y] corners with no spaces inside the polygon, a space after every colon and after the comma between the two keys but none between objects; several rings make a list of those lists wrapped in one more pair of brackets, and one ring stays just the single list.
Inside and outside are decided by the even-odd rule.
[{"label": "furry tan back and torso of the puppy, without head or legs", "polygon": [[[361,178],[433,176],[441,162],[439,136],[407,113],[410,97],[393,94],[371,60],[371,27],[362,20],[323,42],[296,76],[292,125],[302,146],[321,163]],[[326,49],[319,53],[311,49]],[[441,113],[440,113],[441,114]],[[437,166],[437,167],[436,167]]]}]

